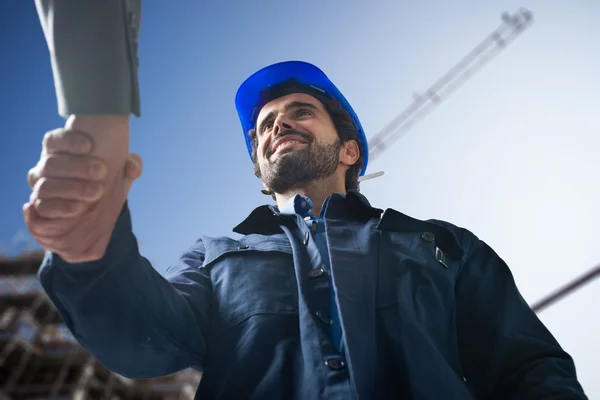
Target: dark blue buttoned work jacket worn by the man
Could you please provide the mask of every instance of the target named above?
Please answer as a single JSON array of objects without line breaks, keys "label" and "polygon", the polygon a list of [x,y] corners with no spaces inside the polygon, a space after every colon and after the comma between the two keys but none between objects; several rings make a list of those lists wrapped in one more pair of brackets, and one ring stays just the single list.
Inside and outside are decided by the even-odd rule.
[{"label": "dark blue buttoned work jacket worn by the man", "polygon": [[[586,398],[472,233],[352,191],[323,215],[329,269],[299,215],[262,206],[240,239],[201,237],[163,276],[140,256],[126,206],[103,259],[49,253],[39,276],[105,366],[130,378],[202,370],[198,399]],[[343,355],[327,333],[330,285]]]}]

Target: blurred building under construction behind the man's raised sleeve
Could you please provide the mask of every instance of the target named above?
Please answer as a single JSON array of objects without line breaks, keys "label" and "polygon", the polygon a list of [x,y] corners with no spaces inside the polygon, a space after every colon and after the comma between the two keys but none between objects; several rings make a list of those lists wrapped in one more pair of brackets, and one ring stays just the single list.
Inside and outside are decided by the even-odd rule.
[{"label": "blurred building under construction behind the man's raised sleeve", "polygon": [[0,259],[0,400],[193,399],[199,372],[130,380],[81,347],[39,283],[42,258]]}]

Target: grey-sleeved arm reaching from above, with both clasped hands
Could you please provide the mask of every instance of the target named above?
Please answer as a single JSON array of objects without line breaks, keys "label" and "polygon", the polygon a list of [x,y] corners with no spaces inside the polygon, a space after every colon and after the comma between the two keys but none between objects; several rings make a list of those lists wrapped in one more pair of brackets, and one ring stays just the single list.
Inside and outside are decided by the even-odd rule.
[{"label": "grey-sleeved arm reaching from above, with both clasped hands", "polygon": [[[140,114],[141,0],[36,0],[36,8],[68,121],[44,137],[24,217],[46,249],[70,262],[97,260],[141,173],[141,159],[129,154],[130,114]],[[103,167],[90,180],[84,172],[94,161]],[[138,173],[129,176],[128,164]]]}]

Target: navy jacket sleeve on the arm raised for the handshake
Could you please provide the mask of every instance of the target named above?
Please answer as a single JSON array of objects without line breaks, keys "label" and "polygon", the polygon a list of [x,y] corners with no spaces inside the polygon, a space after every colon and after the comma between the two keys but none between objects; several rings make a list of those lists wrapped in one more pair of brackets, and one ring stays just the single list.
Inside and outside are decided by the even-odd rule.
[{"label": "navy jacket sleeve on the arm raised for the handshake", "polygon": [[40,282],[76,340],[108,369],[151,378],[202,370],[212,302],[201,242],[165,275],[140,256],[127,205],[101,260],[47,253]]}]

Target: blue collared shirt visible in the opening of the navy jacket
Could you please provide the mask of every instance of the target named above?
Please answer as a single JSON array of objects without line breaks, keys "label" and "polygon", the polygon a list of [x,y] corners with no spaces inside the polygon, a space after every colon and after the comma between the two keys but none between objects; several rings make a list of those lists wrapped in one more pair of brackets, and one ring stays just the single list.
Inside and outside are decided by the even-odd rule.
[{"label": "blue collared shirt visible in the opening of the navy jacket", "polygon": [[[341,195],[344,197],[344,195]],[[327,235],[325,233],[325,219],[323,218],[323,212],[327,208],[327,202],[329,197],[325,200],[321,213],[317,217],[312,212],[313,202],[306,196],[296,194],[288,200],[288,202],[281,208],[282,214],[298,214],[304,218],[306,224],[312,232],[312,239],[315,241],[319,250],[320,260],[315,259],[313,269],[324,268],[327,271],[329,277],[329,320],[331,325],[329,327],[329,335],[332,343],[342,357],[344,356],[344,338],[342,334],[342,326],[340,323],[340,316],[336,302],[335,287],[333,280],[331,279],[331,261],[329,257],[329,245],[327,243]]]}]

